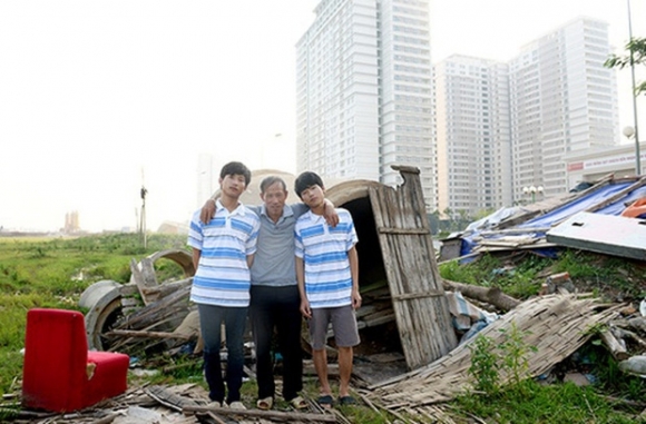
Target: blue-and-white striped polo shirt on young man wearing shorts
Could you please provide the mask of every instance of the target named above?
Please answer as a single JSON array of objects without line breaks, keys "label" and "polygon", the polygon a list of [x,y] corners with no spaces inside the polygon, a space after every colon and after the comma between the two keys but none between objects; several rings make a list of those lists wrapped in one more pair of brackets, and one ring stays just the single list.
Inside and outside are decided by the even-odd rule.
[{"label": "blue-and-white striped polo shirt on young man wearing shorts", "polygon": [[310,210],[294,228],[295,253],[305,264],[305,294],[314,309],[352,304],[348,250],[359,239],[350,213],[342,208],[336,213],[336,227],[330,227],[323,216]]}]

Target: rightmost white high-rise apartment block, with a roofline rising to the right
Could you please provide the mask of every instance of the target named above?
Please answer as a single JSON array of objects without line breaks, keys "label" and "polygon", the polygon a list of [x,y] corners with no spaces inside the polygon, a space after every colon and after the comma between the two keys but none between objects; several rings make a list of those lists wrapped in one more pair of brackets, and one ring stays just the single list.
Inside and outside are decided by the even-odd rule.
[{"label": "rightmost white high-rise apartment block, with a roofline rising to the right", "polygon": [[608,24],[579,18],[528,43],[509,63],[513,196],[566,193],[565,155],[618,144]]}]

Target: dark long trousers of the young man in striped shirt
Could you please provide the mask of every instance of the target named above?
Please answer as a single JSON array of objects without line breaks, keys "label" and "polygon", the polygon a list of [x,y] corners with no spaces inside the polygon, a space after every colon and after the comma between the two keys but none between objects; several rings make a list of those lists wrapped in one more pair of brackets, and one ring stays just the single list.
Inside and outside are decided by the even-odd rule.
[{"label": "dark long trousers of the young man in striped shirt", "polygon": [[204,375],[208,383],[208,397],[223,402],[225,390],[219,362],[222,342],[221,324],[224,322],[226,337],[226,403],[239,401],[244,368],[244,332],[247,318],[246,307],[224,307],[197,305],[199,327],[204,339]]}]

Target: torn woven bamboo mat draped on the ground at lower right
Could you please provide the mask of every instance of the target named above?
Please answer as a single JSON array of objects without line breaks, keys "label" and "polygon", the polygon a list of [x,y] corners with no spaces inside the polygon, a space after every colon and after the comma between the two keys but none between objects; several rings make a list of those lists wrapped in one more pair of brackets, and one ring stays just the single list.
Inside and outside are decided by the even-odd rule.
[{"label": "torn woven bamboo mat draped on the ground at lower right", "polygon": [[[620,307],[600,305],[593,298],[579,299],[576,295],[541,296],[518,305],[480,334],[500,345],[505,342],[500,329],[509,331],[515,322],[525,334],[525,343],[537,347],[528,353],[527,359],[529,375],[538,376],[575,353],[589,338],[587,331],[610,321]],[[429,405],[450,401],[470,387],[468,346],[474,338],[432,364],[370,387],[369,397],[392,411],[428,414]],[[508,381],[503,374],[500,377],[502,383]]]}]

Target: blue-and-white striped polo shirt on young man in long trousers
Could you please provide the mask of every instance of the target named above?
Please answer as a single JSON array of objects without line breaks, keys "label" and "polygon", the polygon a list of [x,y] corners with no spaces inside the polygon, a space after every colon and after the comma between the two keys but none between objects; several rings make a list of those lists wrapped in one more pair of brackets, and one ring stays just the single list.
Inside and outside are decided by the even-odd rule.
[{"label": "blue-and-white striped polo shirt on young man in long trousers", "polygon": [[247,256],[256,252],[260,219],[243,204],[228,211],[216,201],[208,224],[193,214],[188,245],[202,250],[193,277],[190,300],[197,304],[246,307],[249,304],[251,274]]}]

